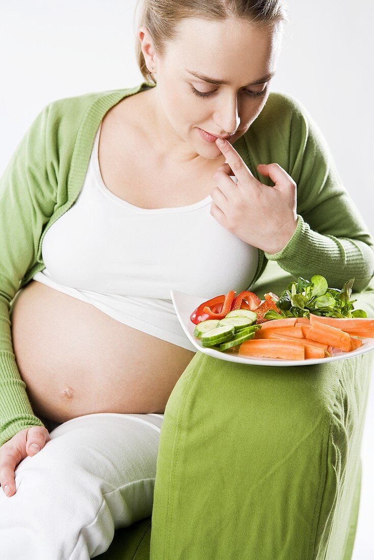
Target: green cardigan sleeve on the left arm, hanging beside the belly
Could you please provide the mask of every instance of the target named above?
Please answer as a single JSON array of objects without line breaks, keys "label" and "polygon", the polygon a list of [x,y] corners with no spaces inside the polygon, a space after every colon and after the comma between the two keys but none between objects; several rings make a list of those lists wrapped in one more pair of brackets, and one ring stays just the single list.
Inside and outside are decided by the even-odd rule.
[{"label": "green cardigan sleeve on the left arm, hanging beside the belly", "polygon": [[31,408],[13,352],[10,304],[35,263],[41,231],[56,204],[57,178],[47,157],[47,105],[16,147],[0,178],[0,446],[44,426]]}]

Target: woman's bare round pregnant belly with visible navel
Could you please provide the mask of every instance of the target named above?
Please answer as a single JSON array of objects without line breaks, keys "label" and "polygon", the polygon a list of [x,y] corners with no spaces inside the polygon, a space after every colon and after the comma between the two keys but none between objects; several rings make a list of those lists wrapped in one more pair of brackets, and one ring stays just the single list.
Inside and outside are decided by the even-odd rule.
[{"label": "woman's bare round pregnant belly with visible navel", "polygon": [[37,281],[13,301],[17,365],[36,416],[163,414],[195,352],[152,337]]}]

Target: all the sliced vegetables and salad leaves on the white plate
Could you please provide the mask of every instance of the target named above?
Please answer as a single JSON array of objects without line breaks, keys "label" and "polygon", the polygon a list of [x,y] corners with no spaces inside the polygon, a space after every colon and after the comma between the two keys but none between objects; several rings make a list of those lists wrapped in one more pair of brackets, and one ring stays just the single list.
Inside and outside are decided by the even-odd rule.
[{"label": "all the sliced vegetables and salad leaves on the white plate", "polygon": [[[374,338],[374,319],[354,310],[354,278],[329,288],[323,276],[290,282],[278,297],[261,301],[253,292],[231,290],[207,300],[190,315],[201,346],[248,357],[308,360],[360,348]],[[358,338],[357,338],[358,337]]]}]

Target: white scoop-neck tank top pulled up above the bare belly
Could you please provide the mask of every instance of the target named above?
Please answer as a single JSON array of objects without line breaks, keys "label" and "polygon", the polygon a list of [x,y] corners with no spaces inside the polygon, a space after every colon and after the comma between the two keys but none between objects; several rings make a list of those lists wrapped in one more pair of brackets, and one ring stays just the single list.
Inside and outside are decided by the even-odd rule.
[{"label": "white scoop-neck tank top pulled up above the bare belly", "polygon": [[147,209],[113,194],[100,173],[100,130],[101,124],[84,185],[45,234],[45,268],[33,279],[196,352],[179,324],[170,290],[205,300],[247,290],[258,249],[215,220],[210,195],[189,206]]}]

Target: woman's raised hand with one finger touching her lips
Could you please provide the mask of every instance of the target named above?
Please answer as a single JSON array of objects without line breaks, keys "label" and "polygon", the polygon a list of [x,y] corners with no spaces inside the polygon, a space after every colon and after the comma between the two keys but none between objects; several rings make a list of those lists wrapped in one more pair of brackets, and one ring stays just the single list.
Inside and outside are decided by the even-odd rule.
[{"label": "woman's raised hand with one finger touching her lips", "polygon": [[[281,251],[297,224],[297,185],[279,164],[258,164],[261,175],[275,183],[267,186],[253,176],[228,141],[216,145],[226,158],[213,175],[217,184],[210,193],[210,213],[228,231],[269,254]],[[230,179],[237,178],[237,184]]]}]

